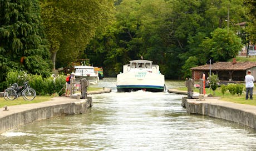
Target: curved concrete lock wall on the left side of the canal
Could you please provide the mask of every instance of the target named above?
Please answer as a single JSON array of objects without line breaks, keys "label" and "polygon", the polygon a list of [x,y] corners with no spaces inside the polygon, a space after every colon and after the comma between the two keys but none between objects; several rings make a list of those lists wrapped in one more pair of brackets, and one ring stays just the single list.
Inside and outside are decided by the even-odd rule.
[{"label": "curved concrete lock wall on the left side of the canal", "polygon": [[[81,114],[92,107],[92,98],[61,102],[45,107],[35,107],[21,112],[11,113],[0,118],[0,134],[20,125],[29,124],[36,120],[60,117],[62,115]],[[11,108],[11,107],[10,107]],[[8,112],[8,111],[4,111]]]}]

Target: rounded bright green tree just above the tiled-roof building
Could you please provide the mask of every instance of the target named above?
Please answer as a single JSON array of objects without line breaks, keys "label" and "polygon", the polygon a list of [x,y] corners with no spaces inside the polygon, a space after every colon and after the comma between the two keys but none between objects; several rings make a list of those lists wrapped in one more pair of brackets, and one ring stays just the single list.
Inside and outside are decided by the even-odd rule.
[{"label": "rounded bright green tree just above the tiled-roof building", "polygon": [[228,61],[242,49],[241,39],[234,32],[221,28],[211,33],[211,38],[206,38],[200,46],[205,56],[213,57],[214,61]]}]

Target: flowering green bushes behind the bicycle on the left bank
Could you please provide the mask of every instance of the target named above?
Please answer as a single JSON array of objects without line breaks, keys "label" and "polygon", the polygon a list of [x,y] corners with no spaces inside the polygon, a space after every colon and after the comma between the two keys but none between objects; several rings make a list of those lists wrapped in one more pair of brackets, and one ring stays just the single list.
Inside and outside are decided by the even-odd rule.
[{"label": "flowering green bushes behind the bicycle on the left bank", "polygon": [[42,75],[32,75],[24,71],[11,71],[7,73],[6,88],[13,83],[23,85],[23,82],[28,82],[30,87],[36,90],[37,95],[61,95],[65,93],[65,79],[65,75],[43,78]]}]

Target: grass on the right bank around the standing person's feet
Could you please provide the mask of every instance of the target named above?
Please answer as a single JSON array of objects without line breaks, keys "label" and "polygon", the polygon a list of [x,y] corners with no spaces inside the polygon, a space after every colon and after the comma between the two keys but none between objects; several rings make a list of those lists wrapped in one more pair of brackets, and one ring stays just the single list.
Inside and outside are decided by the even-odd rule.
[{"label": "grass on the right bank around the standing person's feet", "polygon": [[[184,90],[187,91],[188,88],[186,87],[181,87],[178,88],[178,90]],[[206,94],[212,94],[213,95],[213,90],[209,90],[209,88],[205,88]],[[198,88],[194,88],[194,92],[198,92],[199,93],[199,89]],[[240,104],[248,104],[248,105],[256,105],[256,94],[253,94],[253,98],[254,100],[245,100],[245,92],[242,93],[242,95],[238,96],[237,94],[232,95],[227,92],[223,95],[221,93],[220,88],[217,88],[215,90],[215,94],[214,97],[220,97],[221,100],[225,100],[225,101],[229,101],[229,102],[233,102],[233,103],[240,103]]]}]

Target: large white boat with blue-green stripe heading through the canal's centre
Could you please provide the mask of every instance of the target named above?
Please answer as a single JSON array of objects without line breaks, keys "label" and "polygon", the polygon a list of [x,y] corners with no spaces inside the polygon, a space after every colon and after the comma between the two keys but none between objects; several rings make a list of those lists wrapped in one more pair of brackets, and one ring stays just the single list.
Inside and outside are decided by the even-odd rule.
[{"label": "large white boat with blue-green stripe heading through the canal's centre", "polygon": [[123,66],[123,72],[117,74],[117,92],[131,92],[145,90],[149,92],[163,92],[165,78],[160,73],[159,66],[152,61],[134,60]]}]

